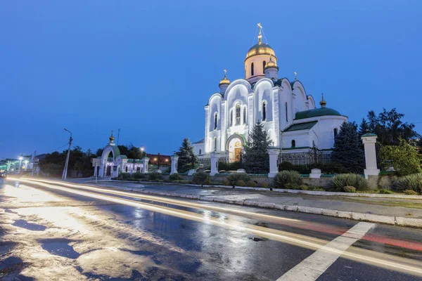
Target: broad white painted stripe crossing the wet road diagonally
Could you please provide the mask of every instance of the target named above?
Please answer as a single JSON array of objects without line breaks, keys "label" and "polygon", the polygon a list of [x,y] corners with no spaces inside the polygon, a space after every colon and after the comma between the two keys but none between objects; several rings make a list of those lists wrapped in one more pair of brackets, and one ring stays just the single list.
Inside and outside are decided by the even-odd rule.
[{"label": "broad white painted stripe crossing the wet road diagonally", "polygon": [[[314,254],[308,256],[294,268],[288,270],[277,281],[313,281],[324,273],[347,248],[375,226],[374,223],[357,223],[356,226],[347,230],[343,235],[321,247]],[[333,251],[333,249],[335,251]]]}]

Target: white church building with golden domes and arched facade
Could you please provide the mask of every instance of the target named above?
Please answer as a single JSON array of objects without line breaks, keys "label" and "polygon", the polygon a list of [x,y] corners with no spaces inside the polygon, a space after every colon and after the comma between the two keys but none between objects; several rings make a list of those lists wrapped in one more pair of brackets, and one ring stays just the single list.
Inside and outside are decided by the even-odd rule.
[{"label": "white church building with golden domes and arched facade", "polygon": [[346,116],[326,107],[324,96],[316,107],[296,75],[294,81],[279,78],[276,53],[262,42],[262,27],[258,27],[257,44],[246,53],[245,78],[229,81],[225,73],[219,92],[205,105],[205,136],[193,143],[200,159],[206,161],[215,152],[228,162],[238,162],[257,122],[264,124],[272,146],[283,155],[314,147],[329,152],[341,124],[347,122]]}]

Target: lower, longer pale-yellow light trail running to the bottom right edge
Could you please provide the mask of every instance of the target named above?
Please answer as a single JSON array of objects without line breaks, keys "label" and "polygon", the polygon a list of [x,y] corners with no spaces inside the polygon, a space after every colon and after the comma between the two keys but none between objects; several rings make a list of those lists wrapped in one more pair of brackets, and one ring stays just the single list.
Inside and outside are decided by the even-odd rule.
[{"label": "lower, longer pale-yellow light trail running to the bottom right edge", "polygon": [[[32,180],[23,179],[23,178],[19,178],[19,179],[13,178],[13,179],[16,181],[23,182],[23,183],[32,183],[35,185],[40,185],[41,187],[44,187],[44,188],[70,192],[70,193],[82,195],[85,197],[91,197],[97,200],[105,200],[108,202],[115,202],[117,204],[125,204],[125,205],[136,207],[136,208],[146,209],[148,211],[156,211],[161,214],[177,216],[179,218],[185,218],[192,221],[198,221],[201,223],[210,223],[212,225],[223,227],[223,228],[230,228],[232,230],[252,233],[254,235],[259,235],[261,237],[265,237],[271,240],[277,240],[280,242],[285,242],[288,244],[305,247],[307,249],[317,250],[317,249],[323,248],[324,251],[329,251],[333,254],[338,254],[339,256],[342,256],[347,259],[351,259],[353,261],[359,261],[361,263],[366,263],[372,266],[378,266],[381,268],[387,268],[389,270],[396,270],[402,273],[408,273],[408,274],[422,277],[421,262],[412,260],[412,259],[406,259],[399,256],[391,256],[385,253],[378,253],[378,252],[373,252],[366,249],[358,249],[354,247],[350,247],[349,249],[347,249],[347,251],[338,251],[337,249],[325,247],[326,244],[328,243],[325,240],[320,240],[314,237],[307,237],[305,235],[298,235],[296,233],[287,233],[282,230],[264,228],[261,226],[252,226],[248,224],[241,224],[241,223],[234,224],[231,221],[228,221],[228,222],[220,221],[217,218],[210,218],[210,217],[206,218],[202,216],[201,214],[193,213],[190,211],[182,211],[179,209],[173,209],[170,207],[162,207],[155,204],[149,204],[149,203],[139,202],[135,200],[128,200],[128,199],[113,197],[110,195],[101,195],[101,194],[89,192],[89,191],[75,190],[74,188],[66,188],[63,186],[52,185],[50,183],[44,183],[42,181],[32,181]],[[54,182],[54,181],[50,181],[50,182],[54,184],[62,183],[62,182]],[[82,185],[79,185],[79,186],[82,186]],[[101,190],[99,191],[103,192]],[[127,194],[124,194],[124,196],[130,197],[130,195],[127,195]]]}]

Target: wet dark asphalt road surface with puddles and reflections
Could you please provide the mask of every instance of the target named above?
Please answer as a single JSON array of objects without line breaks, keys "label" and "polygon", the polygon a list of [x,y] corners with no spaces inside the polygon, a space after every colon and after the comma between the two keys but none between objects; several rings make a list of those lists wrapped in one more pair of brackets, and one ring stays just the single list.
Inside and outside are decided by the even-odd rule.
[{"label": "wet dark asphalt road surface with puddles and reflections", "polygon": [[[316,249],[250,233],[242,226],[326,244],[358,223],[214,202],[178,200],[201,204],[193,208],[110,195],[107,190],[91,193],[13,180],[0,185],[0,280],[277,280]],[[119,204],[95,194],[158,209]],[[170,213],[161,211],[165,207]],[[193,215],[198,218],[180,217]],[[422,268],[421,237],[418,229],[376,225],[353,247]],[[317,280],[422,279],[340,256]]]}]

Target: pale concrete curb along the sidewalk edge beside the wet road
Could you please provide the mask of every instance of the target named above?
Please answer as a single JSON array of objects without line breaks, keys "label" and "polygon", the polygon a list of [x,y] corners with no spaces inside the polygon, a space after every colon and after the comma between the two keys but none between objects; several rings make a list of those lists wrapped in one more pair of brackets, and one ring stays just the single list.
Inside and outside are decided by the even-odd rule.
[{"label": "pale concrete curb along the sidewalk edge beside the wet road", "polygon": [[[129,191],[124,188],[116,188],[115,186],[107,186],[107,188]],[[333,209],[323,209],[323,208],[298,206],[298,205],[283,205],[283,204],[259,202],[259,201],[253,201],[253,200],[229,200],[226,198],[210,196],[210,195],[203,195],[203,196],[186,195],[186,194],[179,194],[179,193],[174,193],[174,192],[162,192],[162,191],[155,191],[155,190],[135,189],[135,188],[133,188],[132,190],[133,192],[146,193],[146,194],[151,194],[151,195],[180,197],[180,198],[188,198],[188,199],[193,199],[193,200],[203,200],[203,201],[208,201],[208,202],[219,202],[219,203],[225,203],[225,204],[260,207],[260,208],[265,208],[265,209],[278,209],[278,210],[283,210],[283,211],[296,211],[296,212],[305,213],[305,214],[333,216],[335,218],[347,218],[347,219],[352,219],[354,221],[368,221],[371,223],[383,223],[383,224],[388,224],[392,226],[407,226],[407,227],[412,227],[412,228],[422,228],[422,218],[403,218],[399,216],[382,216],[382,215],[375,215],[375,214],[357,213],[354,211],[338,211],[338,210],[333,210]]]}]

